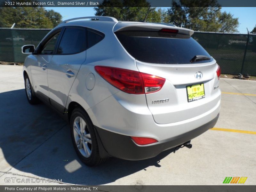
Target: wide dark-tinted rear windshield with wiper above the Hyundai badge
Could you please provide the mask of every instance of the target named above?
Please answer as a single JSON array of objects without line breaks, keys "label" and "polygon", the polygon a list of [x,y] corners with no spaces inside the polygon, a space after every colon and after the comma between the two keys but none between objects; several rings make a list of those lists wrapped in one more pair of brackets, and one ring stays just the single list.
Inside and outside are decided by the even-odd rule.
[{"label": "wide dark-tinted rear windshield with wiper above the Hyundai badge", "polygon": [[136,60],[157,64],[188,64],[196,55],[212,57],[191,36],[158,31],[119,31],[115,33]]}]

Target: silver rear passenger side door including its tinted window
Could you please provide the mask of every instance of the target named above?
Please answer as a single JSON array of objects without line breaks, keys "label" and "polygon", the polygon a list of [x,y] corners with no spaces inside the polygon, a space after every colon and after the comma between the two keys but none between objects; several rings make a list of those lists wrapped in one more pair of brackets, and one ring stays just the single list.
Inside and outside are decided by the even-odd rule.
[{"label": "silver rear passenger side door including its tinted window", "polygon": [[86,28],[65,27],[48,68],[51,105],[64,112],[69,90],[86,59]]}]

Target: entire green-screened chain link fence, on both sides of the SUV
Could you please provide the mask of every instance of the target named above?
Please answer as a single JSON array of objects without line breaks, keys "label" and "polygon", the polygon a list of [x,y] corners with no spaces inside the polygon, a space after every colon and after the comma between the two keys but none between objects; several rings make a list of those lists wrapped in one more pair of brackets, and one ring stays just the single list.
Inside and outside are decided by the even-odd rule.
[{"label": "entire green-screened chain link fence, on both sides of the SUV", "polygon": [[[49,31],[0,28],[0,61],[24,62],[21,46],[37,46]],[[256,34],[195,32],[193,38],[217,60],[222,73],[256,76]]]}]

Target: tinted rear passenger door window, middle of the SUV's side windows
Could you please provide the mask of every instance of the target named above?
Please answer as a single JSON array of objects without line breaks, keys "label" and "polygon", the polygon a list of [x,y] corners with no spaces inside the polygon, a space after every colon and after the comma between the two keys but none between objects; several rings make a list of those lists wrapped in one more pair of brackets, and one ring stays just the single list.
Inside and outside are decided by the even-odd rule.
[{"label": "tinted rear passenger door window, middle of the SUV's side windows", "polygon": [[75,54],[86,49],[85,28],[66,28],[57,54]]}]

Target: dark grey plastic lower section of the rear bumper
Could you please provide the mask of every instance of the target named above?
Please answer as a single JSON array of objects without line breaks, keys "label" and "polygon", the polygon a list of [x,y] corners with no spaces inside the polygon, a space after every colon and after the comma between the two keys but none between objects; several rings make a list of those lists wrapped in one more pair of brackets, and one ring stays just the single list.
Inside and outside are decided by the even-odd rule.
[{"label": "dark grey plastic lower section of the rear bumper", "polygon": [[100,139],[105,152],[109,156],[126,160],[142,160],[155,157],[164,150],[174,148],[197,137],[211,129],[216,124],[218,118],[219,114],[212,121],[189,132],[144,146],[135,144],[129,136],[106,131],[99,127],[95,128],[99,135],[98,139]]}]

